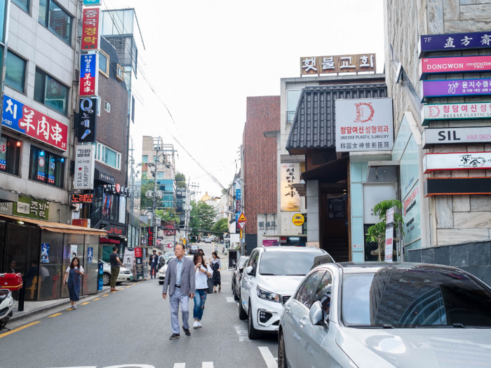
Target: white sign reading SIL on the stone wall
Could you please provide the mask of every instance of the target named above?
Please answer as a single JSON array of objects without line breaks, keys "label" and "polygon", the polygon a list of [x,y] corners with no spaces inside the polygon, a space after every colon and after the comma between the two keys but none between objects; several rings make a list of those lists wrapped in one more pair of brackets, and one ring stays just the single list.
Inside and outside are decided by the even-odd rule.
[{"label": "white sign reading SIL on the stone wall", "polygon": [[440,144],[490,143],[491,127],[426,128],[423,130],[423,149]]}]

